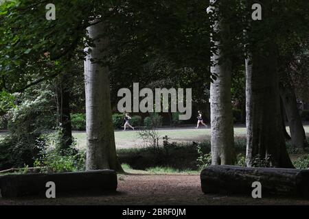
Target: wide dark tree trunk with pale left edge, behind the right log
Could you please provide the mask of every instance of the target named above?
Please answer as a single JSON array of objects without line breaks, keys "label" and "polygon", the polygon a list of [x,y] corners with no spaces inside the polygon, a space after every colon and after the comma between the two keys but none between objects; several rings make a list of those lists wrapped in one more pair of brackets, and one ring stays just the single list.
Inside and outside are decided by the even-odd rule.
[{"label": "wide dark tree trunk with pale left edge, behind the right log", "polygon": [[261,0],[261,4],[262,21],[251,22],[246,31],[250,39],[246,60],[246,164],[252,166],[255,159],[264,159],[272,167],[293,168],[282,131],[277,47],[270,37],[273,30],[268,28],[272,5],[268,0]]}]

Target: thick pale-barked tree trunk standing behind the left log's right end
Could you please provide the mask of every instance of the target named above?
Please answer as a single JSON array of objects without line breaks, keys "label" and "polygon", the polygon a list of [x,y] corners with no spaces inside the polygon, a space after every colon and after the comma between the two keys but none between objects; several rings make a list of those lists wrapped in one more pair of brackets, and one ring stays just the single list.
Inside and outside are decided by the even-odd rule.
[{"label": "thick pale-barked tree trunk standing behind the left log's right end", "polygon": [[87,120],[86,169],[112,169],[122,171],[115,149],[115,136],[111,113],[111,94],[108,66],[102,58],[107,55],[108,38],[102,22],[87,28],[95,47],[87,48],[84,62]]}]

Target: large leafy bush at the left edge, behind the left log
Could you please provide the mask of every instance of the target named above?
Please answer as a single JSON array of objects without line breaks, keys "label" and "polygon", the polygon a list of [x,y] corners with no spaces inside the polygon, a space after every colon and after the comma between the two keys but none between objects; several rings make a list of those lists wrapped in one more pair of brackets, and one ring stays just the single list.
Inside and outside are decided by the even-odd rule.
[{"label": "large leafy bush at the left edge, behind the left log", "polygon": [[[24,94],[25,95],[25,94]],[[33,166],[41,155],[45,139],[41,138],[54,125],[50,111],[52,92],[29,95],[8,112],[8,136],[0,143],[0,168]]]}]

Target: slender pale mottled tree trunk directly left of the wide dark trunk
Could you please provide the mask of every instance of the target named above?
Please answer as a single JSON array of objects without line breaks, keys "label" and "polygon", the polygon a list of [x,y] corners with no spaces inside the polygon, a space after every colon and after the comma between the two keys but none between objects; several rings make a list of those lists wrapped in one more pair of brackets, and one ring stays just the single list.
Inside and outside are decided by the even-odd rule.
[{"label": "slender pale mottled tree trunk directly left of the wide dark trunk", "polygon": [[[212,0],[214,3],[216,0]],[[216,47],[227,44],[229,41],[229,27],[217,21],[214,31],[222,37],[222,42],[214,42]],[[211,164],[234,164],[236,154],[233,136],[233,114],[231,107],[231,61],[222,57],[222,51],[217,49],[211,56],[213,66],[211,73],[216,80],[210,85],[210,114],[211,114]],[[219,62],[220,59],[220,62]]]}]

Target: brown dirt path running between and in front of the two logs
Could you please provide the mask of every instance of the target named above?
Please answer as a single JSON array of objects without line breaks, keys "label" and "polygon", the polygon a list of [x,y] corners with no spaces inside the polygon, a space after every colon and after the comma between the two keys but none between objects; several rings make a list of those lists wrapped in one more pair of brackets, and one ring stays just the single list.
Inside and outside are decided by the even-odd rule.
[{"label": "brown dirt path running between and in front of the two logs", "polygon": [[56,199],[0,198],[0,205],[309,205],[309,201],[205,195],[198,175],[119,175],[118,190],[113,194]]}]

